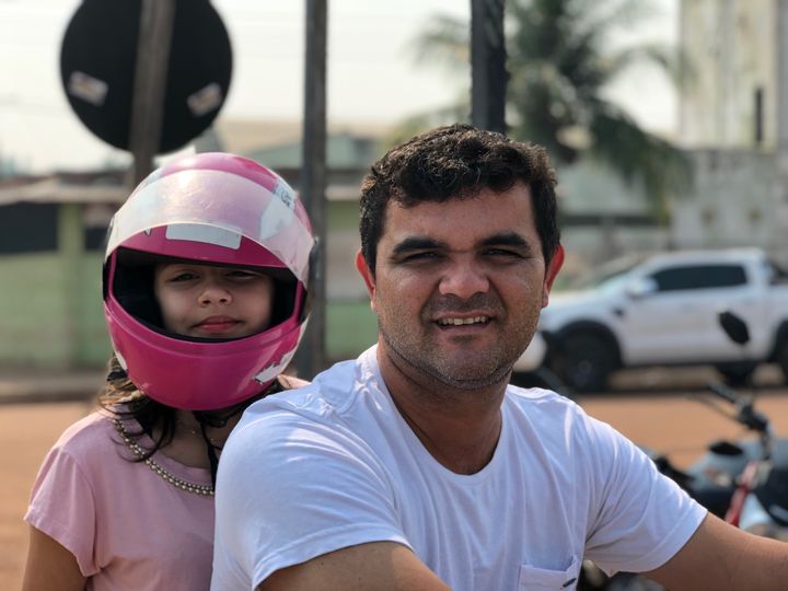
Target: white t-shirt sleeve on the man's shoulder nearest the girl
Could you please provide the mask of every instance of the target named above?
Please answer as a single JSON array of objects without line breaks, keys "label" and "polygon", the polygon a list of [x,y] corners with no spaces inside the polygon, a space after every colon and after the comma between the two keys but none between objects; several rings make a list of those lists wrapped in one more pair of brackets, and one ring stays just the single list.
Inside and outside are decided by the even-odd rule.
[{"label": "white t-shirt sleeve on the man's shoulder nearest the girl", "polygon": [[341,426],[273,412],[232,433],[219,465],[211,589],[254,589],[273,572],[368,542],[409,547],[390,482]]}]

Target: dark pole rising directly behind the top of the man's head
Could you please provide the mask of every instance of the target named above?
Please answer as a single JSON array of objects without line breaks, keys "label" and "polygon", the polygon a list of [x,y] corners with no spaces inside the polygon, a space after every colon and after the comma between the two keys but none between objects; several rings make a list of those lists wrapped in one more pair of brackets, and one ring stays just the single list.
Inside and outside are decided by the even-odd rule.
[{"label": "dark pole rising directly behind the top of the man's head", "polygon": [[471,0],[471,120],[507,132],[505,0]]}]

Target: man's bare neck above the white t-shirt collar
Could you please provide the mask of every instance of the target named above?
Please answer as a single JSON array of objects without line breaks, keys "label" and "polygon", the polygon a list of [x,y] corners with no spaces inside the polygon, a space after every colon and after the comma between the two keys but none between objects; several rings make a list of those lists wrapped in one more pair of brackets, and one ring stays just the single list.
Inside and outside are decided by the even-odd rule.
[{"label": "man's bare neck above the white t-shirt collar", "polygon": [[456,474],[475,474],[493,459],[501,431],[506,382],[453,389],[378,348],[394,405],[425,449]]}]

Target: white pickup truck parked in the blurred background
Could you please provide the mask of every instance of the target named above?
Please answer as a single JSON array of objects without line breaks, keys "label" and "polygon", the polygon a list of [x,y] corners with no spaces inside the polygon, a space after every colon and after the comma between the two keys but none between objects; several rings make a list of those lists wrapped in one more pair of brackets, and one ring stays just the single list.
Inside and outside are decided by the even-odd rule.
[{"label": "white pickup truck parked in the blurred background", "polygon": [[[602,391],[613,371],[646,366],[711,364],[742,381],[776,362],[788,376],[788,276],[762,251],[663,253],[599,271],[579,291],[551,294],[542,338],[515,375],[537,357],[578,392]],[[748,344],[725,335],[726,310],[748,324]]]}]

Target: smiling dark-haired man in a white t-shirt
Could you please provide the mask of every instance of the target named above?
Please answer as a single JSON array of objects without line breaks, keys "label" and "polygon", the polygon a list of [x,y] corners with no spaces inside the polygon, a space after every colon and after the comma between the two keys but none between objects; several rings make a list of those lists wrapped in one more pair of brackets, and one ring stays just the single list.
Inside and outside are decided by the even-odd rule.
[{"label": "smiling dark-haired man in a white t-shirt", "polygon": [[222,455],[212,589],[781,589],[786,546],[707,517],[578,406],[507,386],[564,251],[544,151],[456,125],[361,199],[378,345],[251,407]]}]

